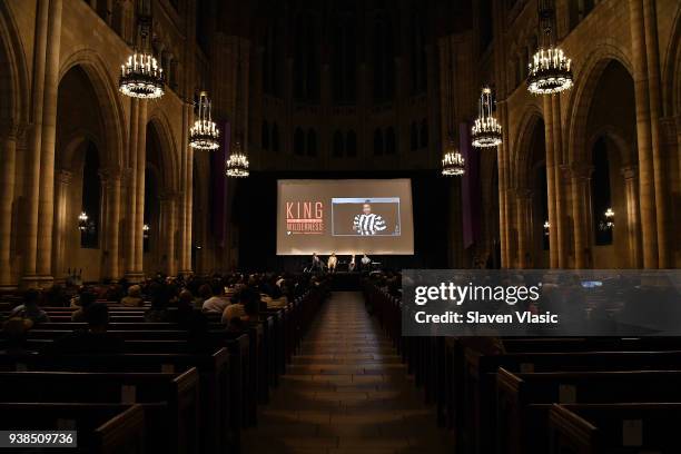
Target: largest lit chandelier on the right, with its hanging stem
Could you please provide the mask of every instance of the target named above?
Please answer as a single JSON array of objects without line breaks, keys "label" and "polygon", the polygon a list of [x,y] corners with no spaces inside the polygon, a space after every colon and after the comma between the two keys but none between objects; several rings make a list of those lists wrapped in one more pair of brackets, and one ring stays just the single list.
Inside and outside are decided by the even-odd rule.
[{"label": "largest lit chandelier on the right, with its hanging stem", "polygon": [[543,43],[529,63],[527,90],[533,95],[553,95],[569,90],[572,82],[572,60],[553,39],[554,9],[552,0],[539,1]]}]

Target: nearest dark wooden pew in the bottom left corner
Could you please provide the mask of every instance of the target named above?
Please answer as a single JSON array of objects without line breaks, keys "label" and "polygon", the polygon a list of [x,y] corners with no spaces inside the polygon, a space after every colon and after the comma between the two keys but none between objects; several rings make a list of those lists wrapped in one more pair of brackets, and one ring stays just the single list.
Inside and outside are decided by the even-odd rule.
[{"label": "nearest dark wooden pew in the bottom left corner", "polygon": [[[154,414],[165,404],[145,404]],[[146,433],[145,405],[85,403],[0,403],[0,427],[3,431],[77,431],[78,447],[31,448],[45,453],[154,453],[164,433]],[[23,451],[18,448],[17,452]]]}]

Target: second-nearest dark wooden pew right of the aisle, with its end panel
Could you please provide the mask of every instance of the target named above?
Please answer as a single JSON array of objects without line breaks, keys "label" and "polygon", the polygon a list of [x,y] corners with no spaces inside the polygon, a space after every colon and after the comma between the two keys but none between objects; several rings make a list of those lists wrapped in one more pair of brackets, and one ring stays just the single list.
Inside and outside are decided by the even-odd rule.
[{"label": "second-nearest dark wooden pew right of the aisle, with its end panel", "polygon": [[496,452],[545,453],[551,404],[681,402],[681,372],[549,372],[513,374],[497,384]]}]

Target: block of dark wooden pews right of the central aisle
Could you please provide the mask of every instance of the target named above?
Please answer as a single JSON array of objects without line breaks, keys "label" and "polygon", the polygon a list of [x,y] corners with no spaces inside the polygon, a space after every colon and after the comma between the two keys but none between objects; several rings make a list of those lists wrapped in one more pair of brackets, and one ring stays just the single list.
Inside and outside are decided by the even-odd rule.
[{"label": "block of dark wooden pews right of the central aisle", "polygon": [[458,453],[681,452],[681,338],[403,336],[399,279],[367,306]]}]

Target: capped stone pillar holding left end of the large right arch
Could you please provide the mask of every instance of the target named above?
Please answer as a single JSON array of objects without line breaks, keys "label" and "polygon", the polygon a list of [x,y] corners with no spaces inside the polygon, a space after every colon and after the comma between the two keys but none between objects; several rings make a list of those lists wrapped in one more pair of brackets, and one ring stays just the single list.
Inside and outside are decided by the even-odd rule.
[{"label": "capped stone pillar holding left end of the large right arch", "polygon": [[574,267],[584,269],[591,266],[589,253],[591,245],[591,228],[589,221],[590,185],[593,166],[572,164],[569,168],[572,180],[572,219],[574,224]]}]

